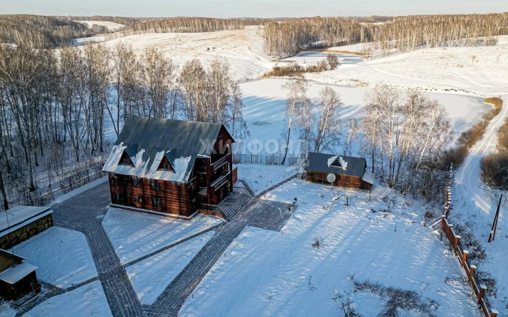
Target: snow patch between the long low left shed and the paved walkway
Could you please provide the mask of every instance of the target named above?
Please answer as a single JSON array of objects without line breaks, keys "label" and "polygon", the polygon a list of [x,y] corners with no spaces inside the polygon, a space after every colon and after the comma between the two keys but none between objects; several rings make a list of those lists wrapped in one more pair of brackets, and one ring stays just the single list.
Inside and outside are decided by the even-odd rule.
[{"label": "snow patch between the long low left shed and the paved walkway", "polygon": [[14,246],[14,253],[38,267],[37,277],[59,288],[68,288],[97,276],[83,233],[50,227]]}]

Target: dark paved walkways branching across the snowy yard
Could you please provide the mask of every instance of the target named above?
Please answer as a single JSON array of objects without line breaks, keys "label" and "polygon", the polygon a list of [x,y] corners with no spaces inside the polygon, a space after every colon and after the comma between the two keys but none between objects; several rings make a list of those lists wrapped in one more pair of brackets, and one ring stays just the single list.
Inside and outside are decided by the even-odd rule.
[{"label": "dark paved walkways branching across the snowy yard", "polygon": [[[295,177],[296,175],[272,186],[269,190]],[[245,226],[279,231],[290,217],[291,211],[289,206],[291,204],[260,199],[259,197],[265,192],[267,191],[263,191],[256,197],[249,199],[230,221],[211,228],[215,230],[212,238],[180,274],[175,277],[152,305],[141,305],[125,272],[125,266],[132,265],[149,256],[165,251],[183,241],[178,241],[141,259],[121,265],[102,227],[102,219],[110,203],[108,183],[101,184],[69,200],[55,204],[51,208],[54,212],[53,222],[55,226],[81,231],[85,234],[93,261],[99,273],[98,278],[101,281],[113,316],[177,316],[185,299],[198,286],[202,278],[217,259],[224,254],[226,248],[228,248],[233,239],[240,234]],[[202,233],[200,232],[199,234]],[[87,280],[79,286],[91,283],[93,280],[97,280],[97,277]],[[46,288],[47,292],[40,294],[33,303],[20,309],[17,316],[21,316],[24,312],[52,296],[74,290],[77,287],[73,286],[72,288],[61,290],[49,286]]]}]

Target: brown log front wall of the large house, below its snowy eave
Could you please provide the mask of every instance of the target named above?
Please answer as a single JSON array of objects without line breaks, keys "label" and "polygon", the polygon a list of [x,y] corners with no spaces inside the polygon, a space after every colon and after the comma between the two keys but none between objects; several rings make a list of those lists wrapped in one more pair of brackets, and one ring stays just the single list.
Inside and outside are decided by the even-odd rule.
[{"label": "brown log front wall of the large house, below its snowy eave", "polygon": [[[111,202],[136,208],[155,210],[157,212],[190,216],[195,209],[190,207],[188,186],[185,183],[155,181],[158,188],[152,188],[151,180],[138,178],[140,186],[134,185],[134,178],[129,175],[109,174]],[[136,200],[138,198],[138,201]],[[139,198],[141,197],[141,201]],[[152,199],[160,199],[161,205],[154,205]]]}]

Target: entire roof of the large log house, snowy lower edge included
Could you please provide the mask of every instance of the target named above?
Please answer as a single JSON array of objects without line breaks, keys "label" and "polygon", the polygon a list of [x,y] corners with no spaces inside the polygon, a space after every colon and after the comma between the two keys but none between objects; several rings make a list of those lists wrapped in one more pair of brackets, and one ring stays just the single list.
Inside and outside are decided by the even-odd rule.
[{"label": "entire roof of the large log house, snowy lower edge included", "polygon": [[[186,183],[196,158],[212,153],[221,129],[229,135],[220,123],[130,116],[103,171]],[[119,164],[123,153],[134,166]],[[175,171],[157,170],[165,156]]]}]

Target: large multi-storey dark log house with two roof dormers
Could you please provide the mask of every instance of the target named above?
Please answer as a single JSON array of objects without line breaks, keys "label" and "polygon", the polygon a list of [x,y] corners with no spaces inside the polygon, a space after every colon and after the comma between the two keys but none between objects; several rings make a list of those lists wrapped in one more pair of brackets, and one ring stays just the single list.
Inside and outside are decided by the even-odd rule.
[{"label": "large multi-storey dark log house with two roof dormers", "polygon": [[224,125],[131,116],[103,171],[113,206],[189,220],[233,191],[231,146]]}]

